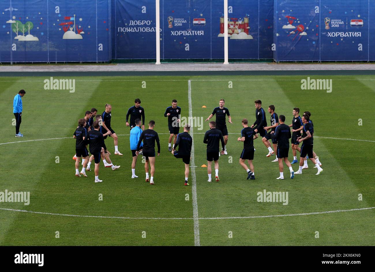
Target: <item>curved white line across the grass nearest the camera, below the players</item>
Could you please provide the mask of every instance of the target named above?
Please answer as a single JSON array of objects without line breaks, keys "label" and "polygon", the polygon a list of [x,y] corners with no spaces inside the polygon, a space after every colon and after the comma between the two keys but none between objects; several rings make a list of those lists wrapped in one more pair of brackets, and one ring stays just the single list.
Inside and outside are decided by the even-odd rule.
[{"label": "curved white line across the grass nearest the camera, below the players", "polygon": [[[261,215],[261,216],[231,216],[231,217],[201,217],[197,218],[199,220],[215,220],[215,219],[251,219],[251,218],[270,218],[270,217],[283,217],[283,216],[301,216],[301,215],[318,215],[326,213],[337,213],[337,212],[353,212],[359,210],[371,210],[375,207],[369,208],[356,208],[348,210],[330,210],[326,212],[308,212],[308,213],[293,213],[293,214],[280,214],[280,215]],[[123,216],[101,216],[101,215],[74,215],[74,214],[64,214],[64,213],[51,213],[51,212],[34,212],[30,210],[20,210],[20,209],[7,209],[0,208],[0,210],[7,210],[10,212],[26,212],[26,213],[36,213],[42,215],[57,215],[57,216],[71,216],[71,217],[84,217],[84,218],[108,218],[108,219],[133,219],[133,220],[192,220],[194,218],[184,218],[184,217],[123,217]]]}]

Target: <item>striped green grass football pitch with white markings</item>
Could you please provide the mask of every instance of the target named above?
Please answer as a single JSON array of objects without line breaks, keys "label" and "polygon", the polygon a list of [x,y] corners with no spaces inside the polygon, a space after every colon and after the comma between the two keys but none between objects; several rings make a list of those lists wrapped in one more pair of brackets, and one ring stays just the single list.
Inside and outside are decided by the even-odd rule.
[{"label": "striped green grass football pitch with white markings", "polygon": [[[374,76],[325,75],[332,92],[301,90],[307,76],[127,76],[75,77],[75,92],[45,90],[49,77],[1,77],[3,113],[0,191],[30,192],[30,204],[0,202],[0,245],[374,245]],[[54,77],[60,79],[58,77]],[[12,101],[25,89],[21,133],[15,138]],[[146,127],[155,120],[161,153],[154,182],[144,180],[138,158],[131,179],[132,156],[127,109],[141,99]],[[228,155],[219,159],[219,182],[207,182],[204,132],[208,122],[193,127],[190,186],[184,186],[184,164],[168,152],[165,109],[177,99],[181,116],[205,120],[225,99]],[[239,164],[243,143],[237,141],[241,120],[255,121],[260,99],[270,123],[269,105],[293,119],[294,107],[311,112],[314,151],[324,171],[316,168],[285,180],[275,156],[266,157],[261,138],[254,140],[255,180]],[[91,108],[98,114],[112,105],[111,126],[118,135],[115,171],[101,162],[99,177],[76,177],[75,140],[78,119]],[[205,106],[205,107],[203,107]],[[189,111],[190,110],[190,111]],[[214,119],[213,119],[214,120]],[[228,120],[228,119],[227,119]],[[180,129],[182,132],[182,129]],[[297,155],[299,159],[299,154]],[[290,147],[289,159],[293,160]],[[298,165],[293,164],[294,171]],[[92,167],[93,169],[93,167]],[[258,192],[288,192],[288,204],[258,202]],[[102,200],[99,200],[100,194]],[[58,232],[58,233],[57,233]],[[56,238],[59,236],[59,238]]]}]

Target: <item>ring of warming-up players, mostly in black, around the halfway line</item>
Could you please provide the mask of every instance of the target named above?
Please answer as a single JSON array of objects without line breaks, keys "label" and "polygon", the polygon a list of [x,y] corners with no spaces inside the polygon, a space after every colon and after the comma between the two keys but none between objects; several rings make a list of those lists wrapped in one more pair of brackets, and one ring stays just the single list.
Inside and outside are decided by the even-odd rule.
[{"label": "ring of warming-up players, mostly in black, around the halfway line", "polygon": [[[156,131],[154,131],[155,121],[151,120],[148,123],[148,129],[144,129],[145,114],[144,108],[140,106],[141,100],[135,99],[135,105],[130,107],[126,114],[126,126],[130,126],[130,150],[132,152],[132,179],[137,178],[135,175],[135,166],[138,159],[138,155],[142,155],[145,158],[145,181],[150,184],[154,184],[154,173],[155,173],[155,158],[160,155],[160,141]],[[314,124],[310,119],[311,113],[305,111],[302,117],[299,116],[299,108],[293,109],[293,122],[291,125],[285,124],[285,116],[275,113],[275,106],[270,105],[268,112],[271,114],[270,126],[267,126],[266,113],[261,107],[262,102],[260,100],[254,101],[255,103],[255,116],[256,120],[254,124],[249,126],[247,119],[242,119],[243,129],[241,136],[237,139],[243,142],[243,150],[240,155],[240,165],[246,170],[248,176],[247,179],[255,179],[254,174],[254,140],[258,138],[258,134],[262,137],[264,145],[269,150],[267,157],[276,155],[276,159],[273,162],[279,163],[280,176],[277,179],[284,179],[284,165],[288,166],[290,170],[290,178],[294,178],[294,174],[302,174],[302,170],[308,168],[307,159],[315,164],[314,168],[317,168],[317,175],[323,171],[321,168],[321,162],[318,156],[313,151],[314,141]],[[226,116],[228,116],[229,123],[232,123],[231,116],[228,108],[224,107],[224,99],[220,99],[219,107],[214,108],[213,112],[208,116],[205,121],[210,120],[216,115],[216,122],[211,121],[209,123],[210,129],[205,132],[203,143],[207,144],[207,173],[208,182],[211,182],[211,165],[214,162],[215,180],[219,181],[219,156],[227,155],[226,143],[228,142],[228,129],[226,128]],[[83,119],[78,120],[78,127],[74,132],[74,138],[76,138],[76,155],[73,159],[76,160],[76,176],[85,176],[86,170],[91,171],[91,162],[95,161],[95,182],[102,182],[99,179],[99,163],[102,159],[105,167],[111,167],[113,170],[120,166],[113,165],[110,156],[105,146],[104,139],[108,137],[113,138],[115,146],[115,154],[122,155],[118,151],[118,138],[114,130],[111,128],[111,110],[110,104],[105,105],[105,111],[102,115],[96,114],[98,111],[92,108],[91,111],[86,111],[86,115]],[[94,121],[95,116],[95,121]],[[130,122],[129,122],[130,116]],[[185,125],[183,132],[180,132],[181,120],[181,108],[177,107],[177,101],[172,100],[172,105],[166,108],[165,117],[168,117],[168,128],[169,128],[169,139],[168,139],[168,150],[175,158],[181,158],[185,165],[185,180],[184,184],[189,185],[189,164],[190,164],[190,153],[192,150],[193,139],[190,136],[190,126]],[[292,130],[290,129],[292,128]],[[173,146],[172,146],[173,139]],[[291,139],[292,150],[293,150],[293,161],[288,160],[289,153],[289,139]],[[269,140],[272,141],[273,149]],[[302,146],[299,147],[299,144]],[[157,152],[155,152],[155,143],[157,144]],[[222,149],[220,149],[220,143]],[[87,150],[89,146],[90,153],[92,154],[89,158],[89,152]],[[275,151],[274,151],[275,150]],[[298,163],[297,151],[300,152],[299,170],[294,172],[291,164]],[[276,152],[276,154],[275,154]],[[81,171],[78,170],[80,157],[82,157],[83,168]],[[77,159],[78,158],[78,159]],[[248,165],[246,164],[248,161]],[[149,168],[150,175],[149,175]]]}]

